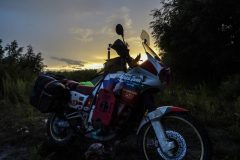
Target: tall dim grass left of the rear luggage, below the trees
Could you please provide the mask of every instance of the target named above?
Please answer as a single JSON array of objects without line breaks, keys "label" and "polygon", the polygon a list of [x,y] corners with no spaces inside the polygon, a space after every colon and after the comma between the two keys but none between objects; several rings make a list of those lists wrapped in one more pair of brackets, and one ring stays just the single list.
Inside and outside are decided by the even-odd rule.
[{"label": "tall dim grass left of the rear luggage, below the trees", "polygon": [[[11,130],[30,123],[37,111],[29,104],[34,79],[11,77],[7,72],[1,77],[2,97],[0,127]],[[3,131],[3,130],[2,130]]]}]

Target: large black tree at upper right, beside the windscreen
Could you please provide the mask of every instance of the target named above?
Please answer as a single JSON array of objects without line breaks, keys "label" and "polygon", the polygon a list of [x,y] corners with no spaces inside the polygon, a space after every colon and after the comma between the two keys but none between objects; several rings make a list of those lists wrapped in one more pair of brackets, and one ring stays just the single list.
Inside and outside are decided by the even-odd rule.
[{"label": "large black tree at upper right, beside the windscreen", "polygon": [[236,0],[172,0],[153,10],[153,36],[180,79],[208,81],[240,73]]}]

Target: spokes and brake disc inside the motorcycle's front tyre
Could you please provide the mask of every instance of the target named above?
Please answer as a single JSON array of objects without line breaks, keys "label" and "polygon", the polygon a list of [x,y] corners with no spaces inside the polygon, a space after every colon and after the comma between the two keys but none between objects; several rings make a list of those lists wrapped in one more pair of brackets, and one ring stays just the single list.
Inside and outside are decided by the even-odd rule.
[{"label": "spokes and brake disc inside the motorcycle's front tyre", "polygon": [[[200,135],[197,128],[190,121],[181,116],[166,116],[163,118],[162,124],[166,129],[166,136],[171,133],[170,140],[173,140],[177,144],[177,147],[172,150],[173,155],[163,154],[166,157],[162,158],[171,159],[184,156],[182,157],[183,159],[202,159],[201,156],[205,154],[202,135]],[[159,145],[154,145],[154,138],[156,139],[156,136],[151,125],[146,129],[144,137],[145,142],[143,144],[145,146],[143,146],[143,149],[146,159],[152,160],[156,159],[156,157],[159,159],[160,157],[157,152]],[[183,142],[185,142],[185,152],[182,150],[184,148]]]}]

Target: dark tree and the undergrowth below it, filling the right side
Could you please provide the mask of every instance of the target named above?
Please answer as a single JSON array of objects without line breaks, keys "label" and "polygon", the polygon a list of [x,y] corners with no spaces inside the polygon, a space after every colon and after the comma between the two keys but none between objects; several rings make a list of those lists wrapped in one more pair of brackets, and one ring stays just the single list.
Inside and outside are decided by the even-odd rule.
[{"label": "dark tree and the undergrowth below it, filling the right side", "polygon": [[[173,84],[160,104],[187,107],[208,128],[218,159],[239,159],[240,21],[235,0],[161,0],[151,28]],[[224,147],[221,147],[224,146]]]}]

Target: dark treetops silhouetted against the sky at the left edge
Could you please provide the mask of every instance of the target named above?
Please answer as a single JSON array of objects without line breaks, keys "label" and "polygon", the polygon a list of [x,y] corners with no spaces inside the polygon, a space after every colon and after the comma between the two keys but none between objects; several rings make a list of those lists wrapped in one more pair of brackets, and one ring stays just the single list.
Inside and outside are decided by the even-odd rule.
[{"label": "dark treetops silhouetted against the sky at the left edge", "polygon": [[23,47],[19,47],[16,40],[7,44],[5,48],[1,42],[2,40],[0,40],[0,80],[5,75],[13,79],[31,79],[43,70],[42,54],[35,53],[31,45],[27,46],[26,53],[23,53]]}]

